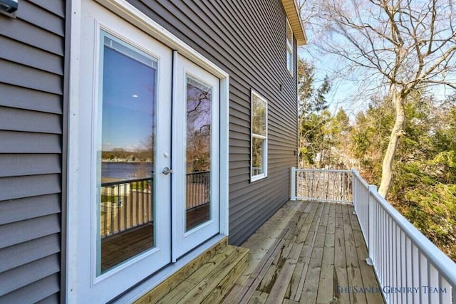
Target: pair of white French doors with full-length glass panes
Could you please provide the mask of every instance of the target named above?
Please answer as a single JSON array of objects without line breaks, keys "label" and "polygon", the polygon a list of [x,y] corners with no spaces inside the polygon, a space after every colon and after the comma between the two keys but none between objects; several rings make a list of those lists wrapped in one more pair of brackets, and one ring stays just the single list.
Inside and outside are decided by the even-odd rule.
[{"label": "pair of white French doors with full-length glass panes", "polygon": [[219,78],[82,2],[78,298],[106,300],[219,233]]}]

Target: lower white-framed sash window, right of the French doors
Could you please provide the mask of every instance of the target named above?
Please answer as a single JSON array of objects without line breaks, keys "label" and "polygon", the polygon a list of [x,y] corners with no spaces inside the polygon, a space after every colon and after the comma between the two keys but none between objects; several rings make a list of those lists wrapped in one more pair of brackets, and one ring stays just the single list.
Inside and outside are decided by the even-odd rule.
[{"label": "lower white-framed sash window, right of the French doors", "polygon": [[252,91],[252,137],[251,137],[252,182],[267,176],[268,154],[268,104]]}]

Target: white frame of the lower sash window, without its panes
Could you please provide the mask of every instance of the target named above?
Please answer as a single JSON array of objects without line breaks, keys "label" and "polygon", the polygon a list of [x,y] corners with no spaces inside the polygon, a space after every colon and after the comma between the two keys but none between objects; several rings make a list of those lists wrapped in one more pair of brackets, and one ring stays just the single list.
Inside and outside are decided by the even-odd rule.
[{"label": "white frame of the lower sash window, without its panes", "polygon": [[[257,96],[257,98],[261,99],[264,101],[266,104],[266,136],[263,135],[258,135],[254,134],[254,111],[253,111],[253,100],[254,100],[254,95]],[[256,91],[252,90],[250,93],[250,104],[251,104],[251,110],[250,110],[250,182],[255,182],[259,179],[265,179],[268,177],[268,101],[266,98],[263,96],[259,95]],[[263,173],[262,174],[257,174],[253,175],[253,139],[254,138],[261,138],[261,140],[264,140],[263,142]]]}]

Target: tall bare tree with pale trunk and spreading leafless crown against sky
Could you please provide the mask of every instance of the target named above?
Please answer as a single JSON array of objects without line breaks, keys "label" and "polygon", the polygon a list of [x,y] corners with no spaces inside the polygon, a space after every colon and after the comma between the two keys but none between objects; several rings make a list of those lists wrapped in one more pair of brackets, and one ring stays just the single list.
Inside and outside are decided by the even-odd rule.
[{"label": "tall bare tree with pale trunk and spreading leafless crown against sky", "polygon": [[[405,105],[416,90],[443,85],[456,90],[456,12],[454,0],[307,0],[316,44],[338,56],[339,77],[363,75],[372,88],[388,92],[395,125],[383,162],[380,194],[388,194],[392,164],[403,136]],[[317,9],[316,9],[317,8]],[[320,14],[314,14],[318,11]],[[355,76],[356,78],[356,76]]]}]

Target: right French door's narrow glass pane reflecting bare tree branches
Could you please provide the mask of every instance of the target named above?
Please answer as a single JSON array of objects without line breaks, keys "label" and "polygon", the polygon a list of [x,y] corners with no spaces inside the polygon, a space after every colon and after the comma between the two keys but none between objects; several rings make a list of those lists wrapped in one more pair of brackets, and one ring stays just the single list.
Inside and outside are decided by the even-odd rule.
[{"label": "right French door's narrow glass pane reflecting bare tree branches", "polygon": [[212,88],[187,76],[186,230],[210,219]]}]

